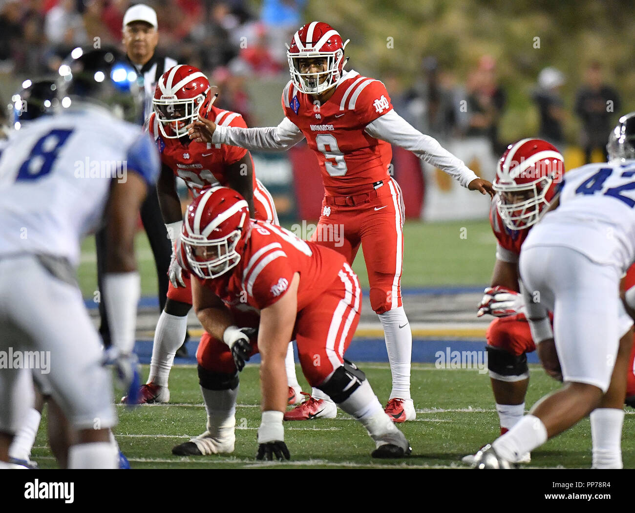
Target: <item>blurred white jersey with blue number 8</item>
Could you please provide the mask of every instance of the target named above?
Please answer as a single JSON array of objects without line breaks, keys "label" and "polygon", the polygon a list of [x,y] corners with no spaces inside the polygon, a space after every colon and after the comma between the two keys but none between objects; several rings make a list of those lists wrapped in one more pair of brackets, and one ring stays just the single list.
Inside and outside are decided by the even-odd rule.
[{"label": "blurred white jersey with blue number 8", "polygon": [[0,155],[0,258],[44,253],[79,261],[79,241],[102,222],[112,180],[135,170],[154,185],[156,147],[140,126],[86,106],[43,116]]}]

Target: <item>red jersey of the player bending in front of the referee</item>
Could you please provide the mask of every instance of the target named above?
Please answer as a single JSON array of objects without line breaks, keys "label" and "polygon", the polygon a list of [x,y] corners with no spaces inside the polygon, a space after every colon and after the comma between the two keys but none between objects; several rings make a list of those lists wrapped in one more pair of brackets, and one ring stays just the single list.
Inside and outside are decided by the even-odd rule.
[{"label": "red jersey of the player bending in front of the referee", "polygon": [[[208,117],[215,119],[215,122],[222,126],[247,128],[240,114],[217,109],[213,105]],[[159,122],[154,112],[148,121],[148,130],[161,154],[161,163],[174,171],[177,177],[183,178],[194,197],[201,194],[201,190],[213,185],[227,185],[226,166],[236,163],[247,153],[246,149],[226,144],[195,141],[184,144],[180,139],[166,139],[161,135]],[[253,188],[256,189],[255,172],[253,173]]]}]

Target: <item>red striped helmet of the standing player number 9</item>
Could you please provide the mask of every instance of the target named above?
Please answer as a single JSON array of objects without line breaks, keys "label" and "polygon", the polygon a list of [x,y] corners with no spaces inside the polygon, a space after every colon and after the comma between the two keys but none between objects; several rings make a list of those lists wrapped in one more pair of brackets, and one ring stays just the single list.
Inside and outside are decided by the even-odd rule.
[{"label": "red striped helmet of the standing player number 9", "polygon": [[[344,48],[349,39],[342,43],[342,36],[331,25],[323,22],[311,22],[301,27],[287,46],[286,57],[293,83],[302,93],[319,95],[338,83],[346,64]],[[302,72],[305,59],[326,58],[326,70],[309,73]]]}]

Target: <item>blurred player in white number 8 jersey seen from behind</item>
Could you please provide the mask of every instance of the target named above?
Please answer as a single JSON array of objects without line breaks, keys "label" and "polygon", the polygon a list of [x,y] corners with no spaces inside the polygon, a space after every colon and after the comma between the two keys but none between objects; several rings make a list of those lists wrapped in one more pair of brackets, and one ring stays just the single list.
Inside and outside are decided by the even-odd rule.
[{"label": "blurred player in white number 8 jersey seen from behind", "polygon": [[[50,387],[76,431],[68,467],[114,469],[112,384],[77,288],[79,241],[107,220],[104,286],[112,342],[117,369],[130,377],[140,295],[136,219],[159,159],[140,128],[111,114],[134,119],[141,105],[137,74],[116,50],[76,48],[60,67],[57,89],[63,112],[30,122],[0,159],[0,350],[39,352],[50,363],[34,378]],[[113,170],[117,162],[126,163],[125,170]],[[32,390],[26,369],[0,373],[1,467]]]}]

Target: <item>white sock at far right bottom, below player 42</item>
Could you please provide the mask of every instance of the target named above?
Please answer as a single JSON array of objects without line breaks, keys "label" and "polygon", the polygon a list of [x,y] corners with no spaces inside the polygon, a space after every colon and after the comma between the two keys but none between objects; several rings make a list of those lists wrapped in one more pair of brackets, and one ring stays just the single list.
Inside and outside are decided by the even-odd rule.
[{"label": "white sock at far right bottom, below player 42", "polygon": [[589,415],[594,469],[622,469],[624,410],[596,408]]}]

